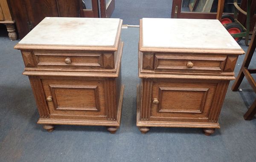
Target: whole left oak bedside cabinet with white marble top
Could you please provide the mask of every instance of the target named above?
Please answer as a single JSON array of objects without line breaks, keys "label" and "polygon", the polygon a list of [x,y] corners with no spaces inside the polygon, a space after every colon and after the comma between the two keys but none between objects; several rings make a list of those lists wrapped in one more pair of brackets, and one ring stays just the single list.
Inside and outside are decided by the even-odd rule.
[{"label": "whole left oak bedside cabinet with white marble top", "polygon": [[122,20],[46,17],[16,46],[21,50],[40,118],[55,124],[120,126]]}]

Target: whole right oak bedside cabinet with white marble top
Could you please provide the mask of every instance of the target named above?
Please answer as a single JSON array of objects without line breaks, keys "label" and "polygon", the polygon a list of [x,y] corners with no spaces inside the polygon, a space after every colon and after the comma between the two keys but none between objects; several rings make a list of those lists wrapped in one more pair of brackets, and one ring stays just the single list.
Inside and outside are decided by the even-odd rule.
[{"label": "whole right oak bedside cabinet with white marble top", "polygon": [[218,117],[244,51],[218,20],[140,20],[137,126],[220,128]]}]

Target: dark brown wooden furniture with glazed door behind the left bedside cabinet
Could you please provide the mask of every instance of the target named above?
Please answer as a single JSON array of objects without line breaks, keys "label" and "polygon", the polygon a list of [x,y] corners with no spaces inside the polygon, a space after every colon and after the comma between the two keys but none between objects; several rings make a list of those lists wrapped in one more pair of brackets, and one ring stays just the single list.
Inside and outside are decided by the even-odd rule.
[{"label": "dark brown wooden furniture with glazed door behind the left bedside cabinet", "polygon": [[[45,17],[110,17],[114,0],[9,0],[20,39]],[[100,11],[99,11],[100,4]],[[86,6],[87,5],[87,6]]]}]

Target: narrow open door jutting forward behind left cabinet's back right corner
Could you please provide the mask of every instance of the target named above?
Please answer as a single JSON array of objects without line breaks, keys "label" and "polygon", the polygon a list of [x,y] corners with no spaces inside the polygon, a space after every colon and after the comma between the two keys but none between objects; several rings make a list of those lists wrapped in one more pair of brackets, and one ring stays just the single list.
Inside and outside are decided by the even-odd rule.
[{"label": "narrow open door jutting forward behind left cabinet's back right corner", "polygon": [[101,17],[111,17],[115,9],[115,0],[100,0]]}]

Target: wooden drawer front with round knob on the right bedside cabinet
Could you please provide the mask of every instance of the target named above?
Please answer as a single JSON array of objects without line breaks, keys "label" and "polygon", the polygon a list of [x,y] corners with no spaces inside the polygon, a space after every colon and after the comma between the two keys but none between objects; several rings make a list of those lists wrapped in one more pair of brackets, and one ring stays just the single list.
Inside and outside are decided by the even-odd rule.
[{"label": "wooden drawer front with round knob on the right bedside cabinet", "polygon": [[155,71],[221,73],[227,56],[155,54]]}]

